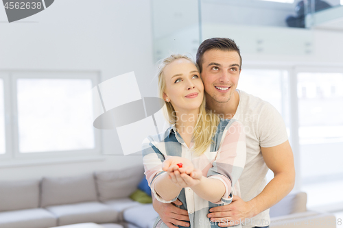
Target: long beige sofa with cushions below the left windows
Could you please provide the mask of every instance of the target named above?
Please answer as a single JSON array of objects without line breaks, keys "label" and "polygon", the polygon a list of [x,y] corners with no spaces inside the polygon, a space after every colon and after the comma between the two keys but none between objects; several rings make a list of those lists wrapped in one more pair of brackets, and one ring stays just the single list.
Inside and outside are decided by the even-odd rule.
[{"label": "long beige sofa with cushions below the left windows", "polygon": [[[152,226],[156,212],[132,201],[144,177],[143,166],[106,170],[74,177],[43,177],[26,181],[0,181],[1,228],[48,228],[77,223],[97,223],[106,228]],[[152,218],[140,226],[123,212],[136,207],[137,214]]]}]

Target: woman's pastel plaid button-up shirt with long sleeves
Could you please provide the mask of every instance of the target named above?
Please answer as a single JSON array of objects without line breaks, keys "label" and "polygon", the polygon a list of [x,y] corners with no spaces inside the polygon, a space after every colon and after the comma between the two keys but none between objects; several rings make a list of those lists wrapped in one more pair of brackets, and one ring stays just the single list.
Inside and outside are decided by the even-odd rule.
[{"label": "woman's pastel plaid button-up shirt with long sleeves", "polygon": [[[193,142],[190,149],[176,131],[175,125],[169,127],[164,133],[156,136],[149,136],[143,141],[143,164],[145,176],[154,197],[163,203],[171,203],[176,199],[182,202],[181,209],[188,211],[192,228],[213,228],[219,227],[207,218],[209,209],[220,205],[227,205],[232,201],[232,195],[238,195],[239,176],[246,163],[246,135],[244,127],[235,120],[220,119],[213,142],[202,153],[192,153]],[[191,190],[182,188],[178,197],[171,201],[163,200],[155,191],[156,179],[165,171],[162,170],[162,163],[168,156],[185,157],[193,163],[194,168],[202,170],[204,177],[218,179],[224,183],[225,193],[221,201],[206,201]],[[156,218],[154,227],[167,227],[161,218]],[[241,227],[238,225],[237,227]]]}]

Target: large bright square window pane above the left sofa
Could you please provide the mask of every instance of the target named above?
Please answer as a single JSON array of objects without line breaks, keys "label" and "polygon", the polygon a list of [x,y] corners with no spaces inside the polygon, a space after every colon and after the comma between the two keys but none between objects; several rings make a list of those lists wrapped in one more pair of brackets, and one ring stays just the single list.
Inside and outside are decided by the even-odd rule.
[{"label": "large bright square window pane above the left sofa", "polygon": [[17,79],[19,152],[93,149],[91,79]]}]

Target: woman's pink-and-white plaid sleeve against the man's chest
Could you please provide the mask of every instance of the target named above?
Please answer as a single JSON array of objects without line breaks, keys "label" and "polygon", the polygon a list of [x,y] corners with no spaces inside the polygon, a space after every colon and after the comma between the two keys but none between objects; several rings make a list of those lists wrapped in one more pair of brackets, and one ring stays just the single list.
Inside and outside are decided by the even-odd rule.
[{"label": "woman's pink-and-white plaid sleeve against the man's chest", "polygon": [[232,190],[238,181],[244,165],[246,164],[246,134],[244,127],[238,121],[226,127],[224,130],[224,140],[217,152],[217,156],[209,169],[207,177],[219,179],[224,183],[225,193],[216,204],[231,203]]}]

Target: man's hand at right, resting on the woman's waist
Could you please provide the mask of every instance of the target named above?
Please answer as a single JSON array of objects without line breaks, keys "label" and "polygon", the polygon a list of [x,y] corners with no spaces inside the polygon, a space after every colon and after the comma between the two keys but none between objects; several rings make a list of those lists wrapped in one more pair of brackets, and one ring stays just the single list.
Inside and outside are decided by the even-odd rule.
[{"label": "man's hand at right, resting on the woman's waist", "polygon": [[210,213],[207,214],[207,217],[211,218],[211,221],[217,221],[217,223],[228,221],[228,223],[220,223],[220,227],[239,225],[239,223],[244,222],[246,218],[252,218],[253,216],[254,213],[252,212],[250,204],[237,196],[233,196],[232,203],[213,207],[210,209]]}]

